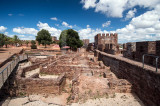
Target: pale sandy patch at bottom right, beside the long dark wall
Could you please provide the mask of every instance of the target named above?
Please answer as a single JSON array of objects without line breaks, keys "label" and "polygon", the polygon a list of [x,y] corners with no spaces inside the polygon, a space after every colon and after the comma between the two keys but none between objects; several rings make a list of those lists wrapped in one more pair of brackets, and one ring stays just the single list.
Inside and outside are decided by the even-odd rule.
[{"label": "pale sandy patch at bottom right, beside the long dark wall", "polygon": [[143,103],[131,93],[116,93],[112,98],[89,99],[87,102],[73,103],[71,106],[144,106]]}]

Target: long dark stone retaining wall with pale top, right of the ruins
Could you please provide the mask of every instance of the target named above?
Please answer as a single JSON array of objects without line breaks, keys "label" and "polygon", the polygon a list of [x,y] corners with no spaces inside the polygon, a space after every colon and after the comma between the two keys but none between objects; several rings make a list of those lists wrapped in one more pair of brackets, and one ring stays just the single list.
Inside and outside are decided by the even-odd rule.
[{"label": "long dark stone retaining wall with pale top, right of the ruins", "polygon": [[148,106],[160,104],[160,72],[155,72],[150,66],[142,68],[142,63],[123,57],[95,51],[98,60],[110,66],[118,78],[127,79],[132,83],[132,90]]}]

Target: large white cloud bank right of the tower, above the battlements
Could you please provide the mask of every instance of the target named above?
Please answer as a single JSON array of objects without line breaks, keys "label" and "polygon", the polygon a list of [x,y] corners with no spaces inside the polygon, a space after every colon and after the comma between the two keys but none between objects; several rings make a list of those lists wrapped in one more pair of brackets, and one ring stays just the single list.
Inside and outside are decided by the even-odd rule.
[{"label": "large white cloud bank right of the tower, above the battlements", "polygon": [[154,10],[132,18],[126,27],[117,29],[120,42],[160,40],[160,5]]}]

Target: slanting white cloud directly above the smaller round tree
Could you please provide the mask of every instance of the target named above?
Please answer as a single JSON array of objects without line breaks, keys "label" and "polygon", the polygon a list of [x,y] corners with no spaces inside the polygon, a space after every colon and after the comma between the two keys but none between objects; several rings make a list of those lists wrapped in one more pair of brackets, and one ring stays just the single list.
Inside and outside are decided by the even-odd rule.
[{"label": "slanting white cloud directly above the smaller round tree", "polygon": [[59,37],[60,33],[61,33],[61,30],[59,29],[56,29],[54,27],[50,27],[48,25],[48,23],[42,23],[39,21],[39,23],[37,24],[38,28],[41,30],[41,29],[46,29],[48,30],[52,36],[57,36]]}]

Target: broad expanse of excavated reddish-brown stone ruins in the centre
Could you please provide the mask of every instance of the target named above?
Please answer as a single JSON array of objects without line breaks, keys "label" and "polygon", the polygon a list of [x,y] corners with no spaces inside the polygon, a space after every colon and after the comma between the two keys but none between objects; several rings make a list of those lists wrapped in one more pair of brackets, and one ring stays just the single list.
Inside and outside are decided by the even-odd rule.
[{"label": "broad expanse of excavated reddish-brown stone ruins in the centre", "polygon": [[[56,94],[68,92],[68,102],[78,102],[97,96],[113,96],[114,93],[131,92],[132,85],[117,79],[109,68],[99,63],[94,55],[70,53],[46,59],[31,57],[30,66],[18,69],[16,75],[17,95]],[[28,72],[36,72],[27,76]],[[55,78],[41,78],[54,75]],[[67,80],[71,82],[67,85]],[[87,84],[87,86],[86,86]],[[69,90],[66,89],[69,87]],[[97,92],[98,91],[98,92]]]}]

